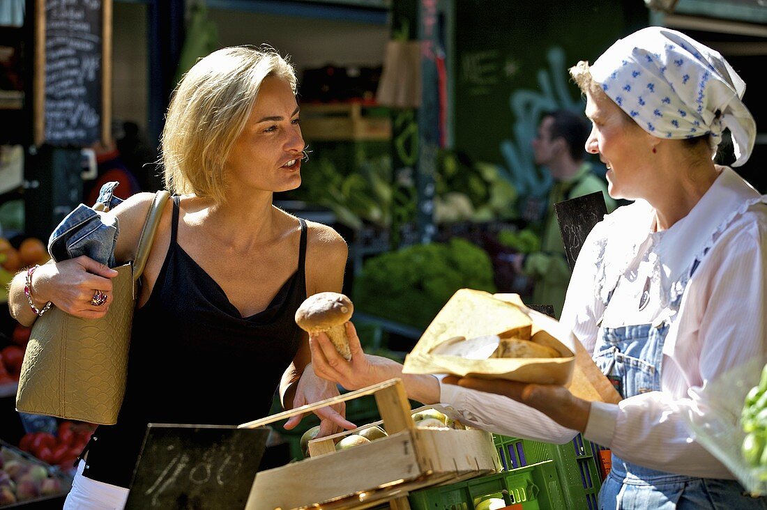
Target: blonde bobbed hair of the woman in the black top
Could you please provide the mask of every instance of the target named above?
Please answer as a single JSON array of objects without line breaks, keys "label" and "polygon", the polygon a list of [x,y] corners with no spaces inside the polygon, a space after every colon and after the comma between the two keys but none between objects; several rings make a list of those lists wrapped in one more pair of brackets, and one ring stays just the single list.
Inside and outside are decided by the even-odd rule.
[{"label": "blonde bobbed hair of the woman in the black top", "polygon": [[295,94],[293,66],[267,47],[214,51],[184,75],[163,128],[166,189],[225,202],[226,160],[268,76],[288,81]]}]

